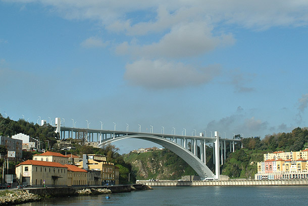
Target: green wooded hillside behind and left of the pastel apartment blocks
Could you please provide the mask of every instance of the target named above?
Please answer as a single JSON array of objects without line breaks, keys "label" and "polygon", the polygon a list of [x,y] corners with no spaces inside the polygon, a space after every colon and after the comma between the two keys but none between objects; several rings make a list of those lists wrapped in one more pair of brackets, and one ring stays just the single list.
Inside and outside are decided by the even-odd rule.
[{"label": "green wooded hillside behind and left of the pastel apartment blocks", "polygon": [[307,128],[295,128],[291,133],[279,133],[260,137],[242,139],[243,149],[237,146],[230,153],[221,168],[223,175],[230,178],[253,179],[257,173],[256,162],[263,161],[263,154],[274,151],[299,151],[308,143]]}]

